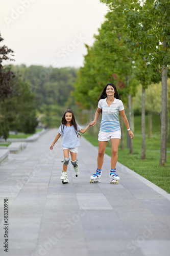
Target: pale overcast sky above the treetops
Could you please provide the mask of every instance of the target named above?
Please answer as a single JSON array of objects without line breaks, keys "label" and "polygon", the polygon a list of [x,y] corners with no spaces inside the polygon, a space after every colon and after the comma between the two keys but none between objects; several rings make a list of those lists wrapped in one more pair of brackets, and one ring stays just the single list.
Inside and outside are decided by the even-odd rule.
[{"label": "pale overcast sky above the treetops", "polygon": [[100,0],[0,0],[0,46],[14,65],[79,68],[106,13]]}]

